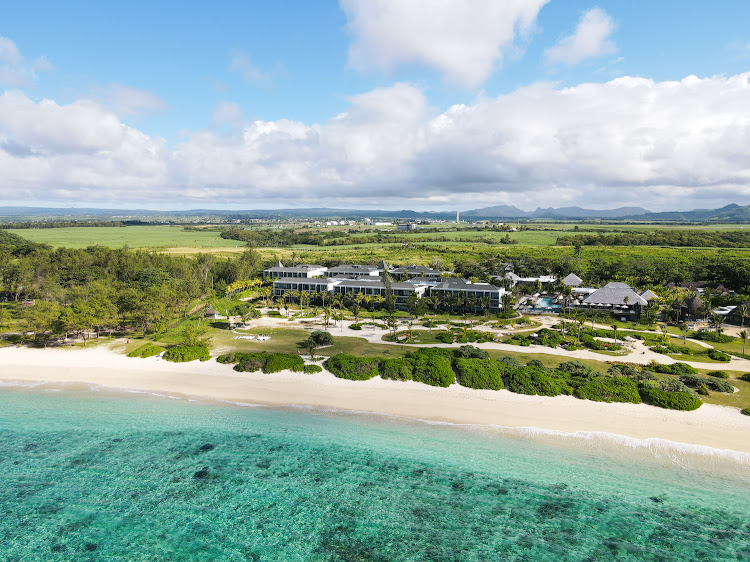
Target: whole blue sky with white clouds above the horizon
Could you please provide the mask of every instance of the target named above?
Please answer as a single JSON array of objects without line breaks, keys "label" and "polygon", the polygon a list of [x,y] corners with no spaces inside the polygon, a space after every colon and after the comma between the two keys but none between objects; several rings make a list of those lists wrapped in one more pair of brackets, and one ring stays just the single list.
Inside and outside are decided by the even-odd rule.
[{"label": "whole blue sky with white clouds above the horizon", "polygon": [[750,204],[750,2],[10,2],[0,205]]}]

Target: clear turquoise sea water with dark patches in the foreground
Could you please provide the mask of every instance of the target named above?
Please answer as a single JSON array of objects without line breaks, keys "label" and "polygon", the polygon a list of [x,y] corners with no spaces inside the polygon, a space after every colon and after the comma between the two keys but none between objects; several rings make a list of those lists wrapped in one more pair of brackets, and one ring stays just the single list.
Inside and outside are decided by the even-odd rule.
[{"label": "clear turquoise sea water with dark patches in the foreground", "polygon": [[0,560],[750,560],[749,458],[6,386]]}]

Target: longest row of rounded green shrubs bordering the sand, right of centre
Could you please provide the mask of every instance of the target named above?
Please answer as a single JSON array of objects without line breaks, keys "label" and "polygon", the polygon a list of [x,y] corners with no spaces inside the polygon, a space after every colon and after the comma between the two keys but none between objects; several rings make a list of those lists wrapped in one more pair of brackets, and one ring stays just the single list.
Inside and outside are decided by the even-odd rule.
[{"label": "longest row of rounded green shrubs bordering the sand, right of centre", "polygon": [[[612,366],[607,373],[595,371],[580,361],[546,367],[538,360],[520,364],[513,358],[491,359],[487,352],[465,345],[459,349],[423,348],[400,359],[378,359],[338,354],[325,368],[339,378],[367,380],[413,380],[432,386],[462,386],[483,390],[508,388],[518,394],[569,395],[597,402],[645,402],[662,408],[694,410],[700,398],[690,386],[703,384],[724,392],[728,383],[718,377],[694,377],[658,382],[647,370],[628,365]],[[686,365],[686,367],[689,367]],[[677,367],[677,371],[680,371]],[[688,384],[690,383],[690,384]]]}]

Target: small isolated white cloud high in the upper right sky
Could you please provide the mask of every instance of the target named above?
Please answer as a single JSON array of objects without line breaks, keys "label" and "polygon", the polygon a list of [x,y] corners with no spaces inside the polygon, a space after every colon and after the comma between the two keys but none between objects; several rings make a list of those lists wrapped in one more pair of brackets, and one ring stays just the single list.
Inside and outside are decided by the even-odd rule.
[{"label": "small isolated white cloud high in the upper right sky", "polygon": [[615,30],[612,18],[600,8],[585,12],[575,33],[560,40],[544,54],[550,63],[576,65],[584,59],[608,55],[617,51],[610,36]]}]

